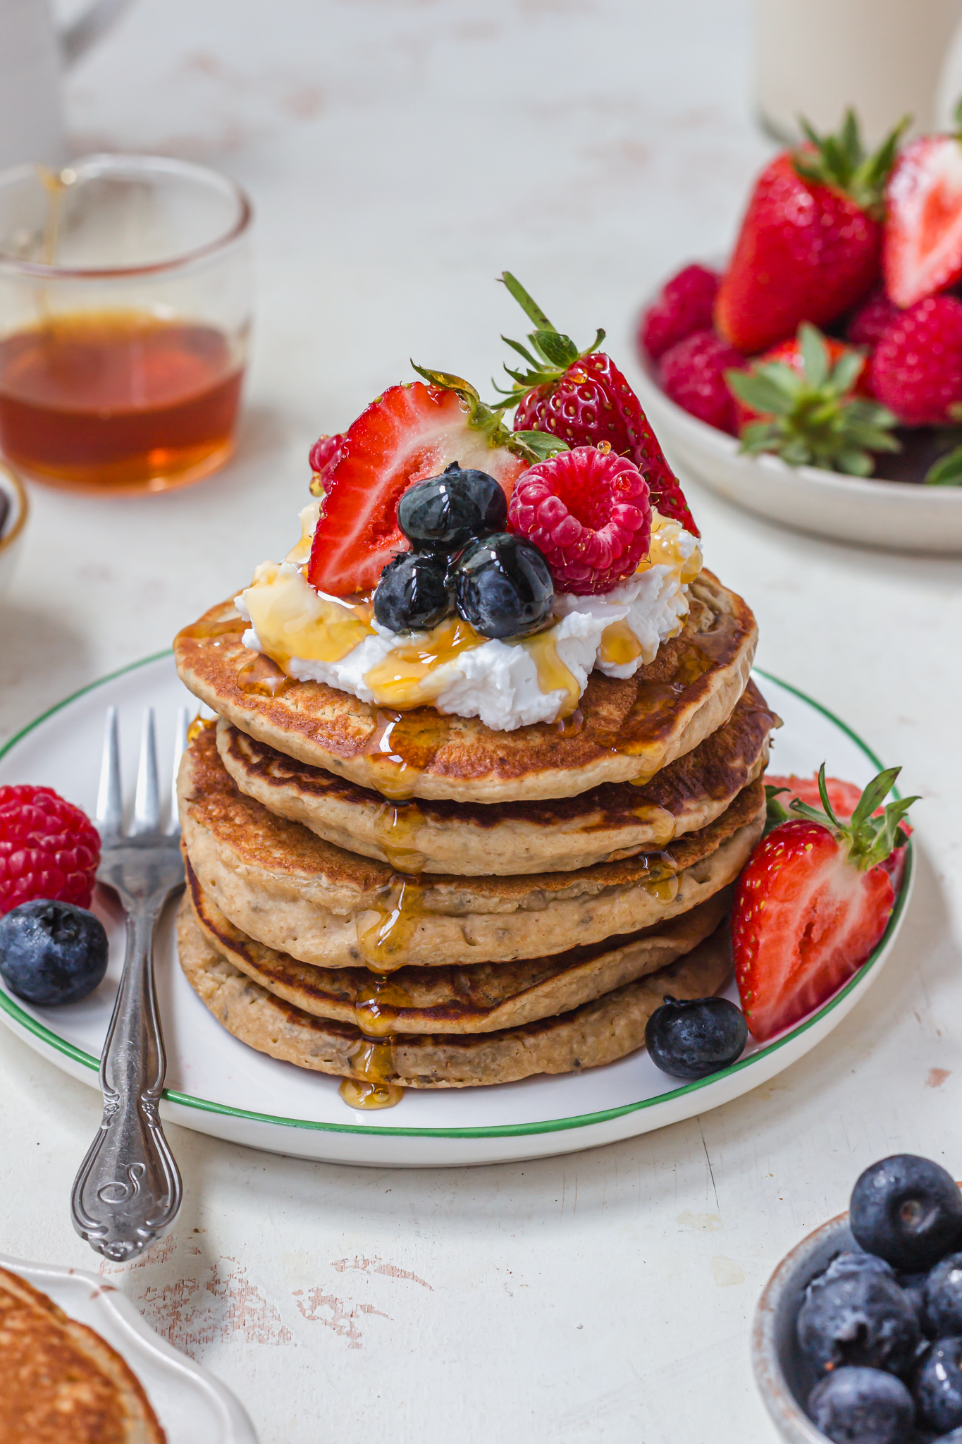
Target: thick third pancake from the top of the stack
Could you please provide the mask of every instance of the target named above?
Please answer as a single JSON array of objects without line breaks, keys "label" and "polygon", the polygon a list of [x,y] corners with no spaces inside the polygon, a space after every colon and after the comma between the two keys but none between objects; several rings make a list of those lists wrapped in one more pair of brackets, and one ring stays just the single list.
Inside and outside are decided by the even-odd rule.
[{"label": "thick third pancake from the top of the stack", "polygon": [[234,784],[203,729],[177,777],[202,887],[244,933],[322,967],[513,962],[635,933],[704,902],[744,866],[764,822],[760,781],[655,855],[571,872],[431,874],[420,882],[277,817]]}]

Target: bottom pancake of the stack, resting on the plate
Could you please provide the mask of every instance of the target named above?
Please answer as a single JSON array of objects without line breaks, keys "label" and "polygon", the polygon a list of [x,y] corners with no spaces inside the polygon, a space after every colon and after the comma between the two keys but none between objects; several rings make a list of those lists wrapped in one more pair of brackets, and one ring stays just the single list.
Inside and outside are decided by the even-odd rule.
[{"label": "bottom pancake of the stack, resting on the plate", "polygon": [[228,1032],[258,1053],[368,1083],[368,1060],[376,1048],[379,1082],[423,1089],[511,1083],[535,1073],[574,1073],[613,1063],[642,1047],[645,1024],[665,993],[705,998],[731,972],[728,930],[723,924],[669,967],[571,1012],[498,1032],[402,1034],[389,1044],[372,1044],[353,1024],[314,1018],[234,967],[205,939],[186,898],[177,917],[177,952],[203,1005]]}]

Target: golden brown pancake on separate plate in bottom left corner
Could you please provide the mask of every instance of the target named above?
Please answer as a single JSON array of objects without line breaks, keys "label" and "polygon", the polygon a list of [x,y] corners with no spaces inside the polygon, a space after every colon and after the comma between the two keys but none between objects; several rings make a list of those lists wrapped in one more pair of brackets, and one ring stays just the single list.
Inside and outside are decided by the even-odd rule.
[{"label": "golden brown pancake on separate plate in bottom left corner", "polygon": [[115,1349],[32,1284],[0,1269],[0,1441],[164,1444]]}]

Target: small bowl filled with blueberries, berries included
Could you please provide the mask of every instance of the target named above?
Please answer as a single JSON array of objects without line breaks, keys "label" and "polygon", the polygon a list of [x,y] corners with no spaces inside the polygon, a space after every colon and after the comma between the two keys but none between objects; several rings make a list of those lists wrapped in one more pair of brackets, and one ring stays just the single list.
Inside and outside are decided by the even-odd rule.
[{"label": "small bowl filled with blueberries, berries included", "polygon": [[754,1375],[789,1444],[962,1444],[962,1193],[939,1164],[871,1164],[850,1212],[769,1279]]}]

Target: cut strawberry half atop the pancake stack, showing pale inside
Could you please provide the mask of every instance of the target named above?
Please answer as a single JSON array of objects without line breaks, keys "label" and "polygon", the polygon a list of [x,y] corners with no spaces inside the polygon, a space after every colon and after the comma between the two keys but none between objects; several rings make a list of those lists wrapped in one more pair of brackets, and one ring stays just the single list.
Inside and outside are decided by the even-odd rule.
[{"label": "cut strawberry half atop the pancake stack, showing pale inside", "polygon": [[427,374],[438,384],[388,387],[343,436],[340,459],[325,478],[325,510],[307,563],[307,580],[319,592],[368,592],[391,557],[410,550],[397,510],[412,482],[457,462],[486,471],[511,497],[529,465],[503,445],[511,433],[473,387],[440,371]]}]

